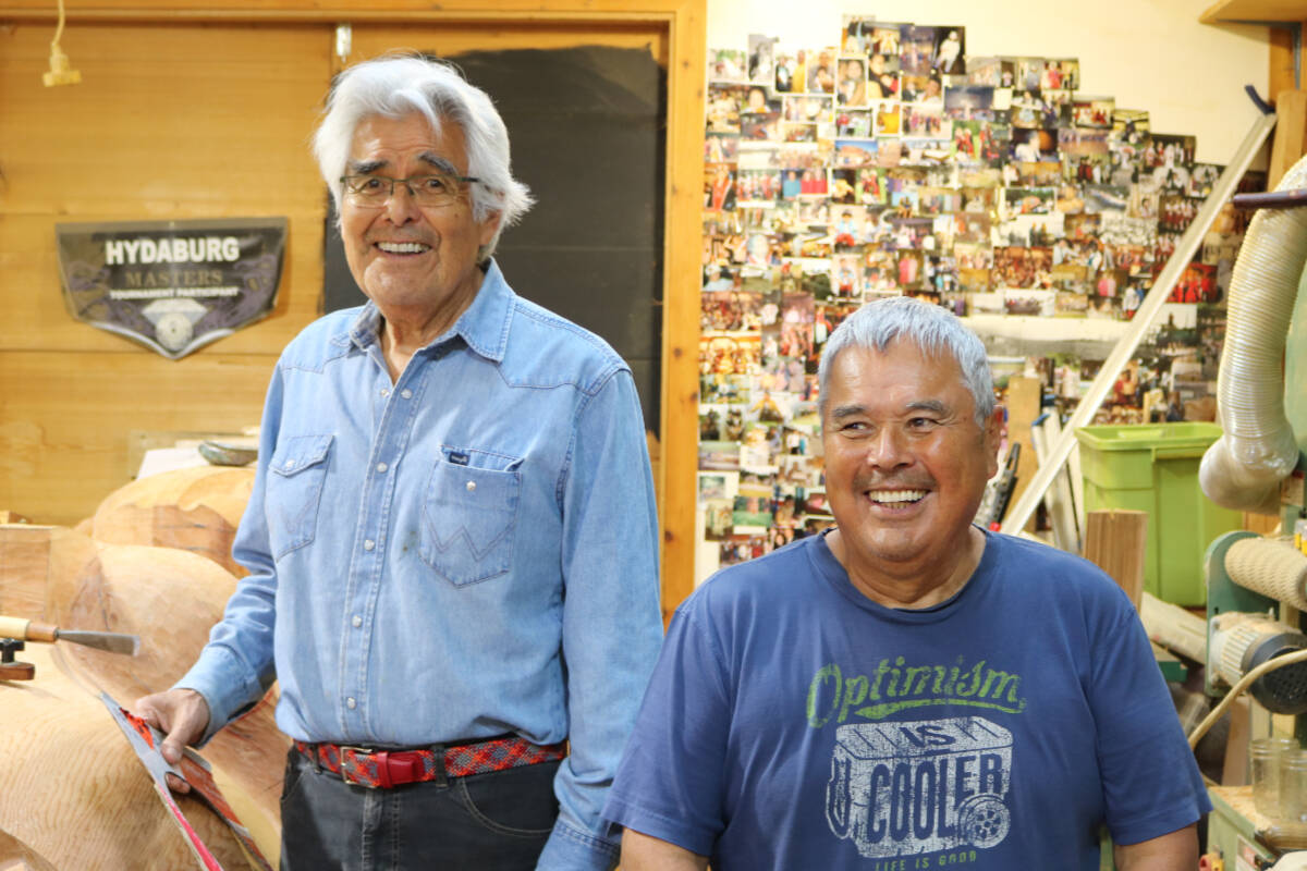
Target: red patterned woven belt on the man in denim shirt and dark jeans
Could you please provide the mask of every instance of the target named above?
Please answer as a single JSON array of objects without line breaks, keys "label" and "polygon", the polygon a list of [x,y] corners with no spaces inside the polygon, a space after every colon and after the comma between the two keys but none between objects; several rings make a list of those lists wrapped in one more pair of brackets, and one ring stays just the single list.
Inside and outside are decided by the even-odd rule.
[{"label": "red patterned woven belt on the man in denim shirt and dark jeans", "polygon": [[[567,755],[567,742],[532,744],[525,738],[491,738],[471,744],[426,750],[367,750],[342,744],[308,744],[295,742],[295,750],[327,770],[340,774],[346,784],[374,789],[391,789],[404,784],[422,784],[442,777],[467,777],[502,772],[521,765],[536,765]],[[440,759],[444,770],[440,770]]]}]

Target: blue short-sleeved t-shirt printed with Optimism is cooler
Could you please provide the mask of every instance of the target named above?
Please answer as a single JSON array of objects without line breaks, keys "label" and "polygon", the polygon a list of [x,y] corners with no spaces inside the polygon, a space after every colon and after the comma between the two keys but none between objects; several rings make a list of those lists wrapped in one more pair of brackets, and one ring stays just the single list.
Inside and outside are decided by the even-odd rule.
[{"label": "blue short-sleeved t-shirt printed with Optimism is cooler", "polygon": [[604,816],[766,868],[1084,868],[1210,811],[1129,599],[987,534],[951,599],[859,593],[822,537],[672,622]]}]

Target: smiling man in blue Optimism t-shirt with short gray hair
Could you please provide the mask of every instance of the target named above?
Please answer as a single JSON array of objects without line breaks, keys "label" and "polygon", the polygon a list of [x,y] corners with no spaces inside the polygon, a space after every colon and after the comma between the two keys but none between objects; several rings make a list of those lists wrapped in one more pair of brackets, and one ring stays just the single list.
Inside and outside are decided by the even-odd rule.
[{"label": "smiling man in blue Optimism t-shirt with short gray hair", "polygon": [[672,622],[604,816],[623,871],[1188,871],[1210,803],[1138,618],[1076,556],[971,524],[1002,410],[942,308],[825,346],[836,528]]}]

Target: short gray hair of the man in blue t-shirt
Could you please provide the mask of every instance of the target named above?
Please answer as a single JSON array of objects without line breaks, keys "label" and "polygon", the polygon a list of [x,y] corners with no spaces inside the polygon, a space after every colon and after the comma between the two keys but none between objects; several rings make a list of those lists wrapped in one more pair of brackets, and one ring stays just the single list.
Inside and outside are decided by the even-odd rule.
[{"label": "short gray hair of the man in blue t-shirt", "polygon": [[931,356],[957,360],[962,383],[975,404],[976,424],[983,430],[995,405],[993,375],[984,345],[951,312],[911,296],[887,296],[867,303],[830,334],[817,368],[817,404],[822,419],[826,419],[826,396],[835,358],[850,347],[884,354],[898,340],[912,342]]}]

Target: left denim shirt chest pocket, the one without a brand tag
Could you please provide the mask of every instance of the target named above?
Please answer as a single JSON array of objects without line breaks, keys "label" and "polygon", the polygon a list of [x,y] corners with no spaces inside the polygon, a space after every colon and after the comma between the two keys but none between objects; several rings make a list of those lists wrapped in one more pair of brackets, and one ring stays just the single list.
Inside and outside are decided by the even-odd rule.
[{"label": "left denim shirt chest pocket, the one without a brand tag", "polygon": [[289,436],[277,443],[264,495],[273,559],[314,541],[331,443],[329,435]]}]

